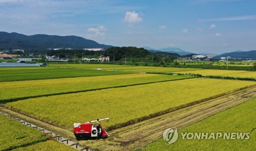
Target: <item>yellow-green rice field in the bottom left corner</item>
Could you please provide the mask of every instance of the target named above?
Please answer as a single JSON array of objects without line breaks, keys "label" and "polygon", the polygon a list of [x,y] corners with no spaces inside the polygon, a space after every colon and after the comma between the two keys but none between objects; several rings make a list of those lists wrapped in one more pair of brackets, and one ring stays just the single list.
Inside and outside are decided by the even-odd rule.
[{"label": "yellow-green rice field in the bottom left corner", "polygon": [[3,115],[0,122],[0,150],[76,150]]}]

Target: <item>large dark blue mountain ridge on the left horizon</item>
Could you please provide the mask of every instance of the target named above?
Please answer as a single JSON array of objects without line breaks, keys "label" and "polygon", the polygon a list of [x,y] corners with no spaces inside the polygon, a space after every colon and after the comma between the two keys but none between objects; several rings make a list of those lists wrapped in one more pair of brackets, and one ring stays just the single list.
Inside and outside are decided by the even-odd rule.
[{"label": "large dark blue mountain ridge on the left horizon", "polygon": [[39,52],[48,48],[109,48],[112,45],[78,36],[32,35],[0,32],[0,50],[24,49],[26,52]]}]

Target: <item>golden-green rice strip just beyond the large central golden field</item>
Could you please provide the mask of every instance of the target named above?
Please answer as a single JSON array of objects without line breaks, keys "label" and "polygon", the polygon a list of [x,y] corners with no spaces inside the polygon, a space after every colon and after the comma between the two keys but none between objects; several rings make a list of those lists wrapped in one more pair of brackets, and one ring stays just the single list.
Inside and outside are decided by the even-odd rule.
[{"label": "golden-green rice strip just beyond the large central golden field", "polygon": [[123,87],[161,81],[181,80],[187,78],[193,77],[135,73],[95,77],[2,82],[0,87],[0,103],[10,102],[21,98],[31,98],[61,93],[74,93],[111,87]]}]

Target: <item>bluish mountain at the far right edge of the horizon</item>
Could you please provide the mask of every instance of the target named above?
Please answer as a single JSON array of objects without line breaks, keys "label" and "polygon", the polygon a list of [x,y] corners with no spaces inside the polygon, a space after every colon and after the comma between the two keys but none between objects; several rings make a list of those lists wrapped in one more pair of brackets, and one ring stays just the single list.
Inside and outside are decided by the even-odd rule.
[{"label": "bluish mountain at the far right edge of the horizon", "polygon": [[219,56],[216,56],[214,58],[221,58],[221,57],[231,57],[231,58],[236,58],[236,59],[256,59],[256,51],[236,51],[236,52],[231,52],[231,53],[225,53],[221,54]]}]

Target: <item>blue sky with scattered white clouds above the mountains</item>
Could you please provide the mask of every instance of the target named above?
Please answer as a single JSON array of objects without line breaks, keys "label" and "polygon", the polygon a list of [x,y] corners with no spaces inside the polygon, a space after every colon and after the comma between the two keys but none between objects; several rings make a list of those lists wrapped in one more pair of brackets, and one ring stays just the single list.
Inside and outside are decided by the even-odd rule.
[{"label": "blue sky with scattered white clouds above the mountains", "polygon": [[255,0],[0,0],[0,31],[193,53],[256,49]]}]

